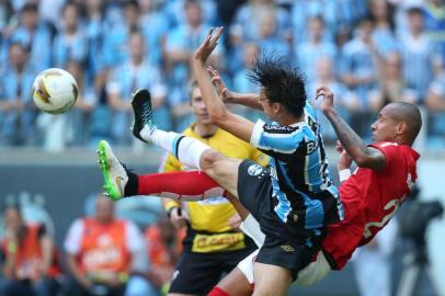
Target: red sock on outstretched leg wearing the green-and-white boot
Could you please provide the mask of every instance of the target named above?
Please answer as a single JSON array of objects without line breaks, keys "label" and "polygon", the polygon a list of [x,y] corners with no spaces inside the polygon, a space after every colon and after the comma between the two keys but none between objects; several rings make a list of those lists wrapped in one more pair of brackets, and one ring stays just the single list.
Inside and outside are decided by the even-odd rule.
[{"label": "red sock on outstretched leg wearing the green-and-white boot", "polygon": [[198,171],[152,173],[138,175],[137,179],[136,195],[196,202],[225,194],[218,183]]}]

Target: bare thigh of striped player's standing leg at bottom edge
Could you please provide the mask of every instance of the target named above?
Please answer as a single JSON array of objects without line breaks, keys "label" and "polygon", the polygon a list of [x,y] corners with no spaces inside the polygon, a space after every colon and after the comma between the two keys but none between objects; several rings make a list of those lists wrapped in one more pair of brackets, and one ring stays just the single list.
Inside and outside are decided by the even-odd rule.
[{"label": "bare thigh of striped player's standing leg at bottom edge", "polygon": [[253,264],[253,296],[286,295],[292,283],[289,270],[259,262]]}]

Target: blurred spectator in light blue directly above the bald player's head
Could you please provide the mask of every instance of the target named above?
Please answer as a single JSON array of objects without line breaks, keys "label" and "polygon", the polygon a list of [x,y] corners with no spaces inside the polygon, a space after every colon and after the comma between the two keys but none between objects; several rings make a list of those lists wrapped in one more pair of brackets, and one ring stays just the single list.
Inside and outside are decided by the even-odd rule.
[{"label": "blurred spectator in light blue directly above the bald player's head", "polygon": [[403,77],[423,102],[434,72],[441,67],[441,56],[424,33],[423,12],[411,8],[407,12],[408,31],[401,36],[401,54],[403,59]]}]

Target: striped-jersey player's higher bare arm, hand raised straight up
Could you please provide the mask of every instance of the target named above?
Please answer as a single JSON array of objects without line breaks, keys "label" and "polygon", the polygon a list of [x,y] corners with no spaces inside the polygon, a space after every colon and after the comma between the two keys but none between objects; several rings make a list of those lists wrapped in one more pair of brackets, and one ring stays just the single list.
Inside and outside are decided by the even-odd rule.
[{"label": "striped-jersey player's higher bare arm, hand raised straight up", "polygon": [[226,107],[225,103],[219,99],[219,95],[216,92],[212,83],[210,76],[206,69],[205,64],[212,52],[217,46],[218,38],[221,33],[222,27],[217,27],[215,34],[214,30],[210,29],[207,37],[193,55],[193,68],[195,70],[196,80],[203,94],[203,100],[207,106],[210,121],[233,136],[246,141],[250,141],[254,124],[231,113]]}]

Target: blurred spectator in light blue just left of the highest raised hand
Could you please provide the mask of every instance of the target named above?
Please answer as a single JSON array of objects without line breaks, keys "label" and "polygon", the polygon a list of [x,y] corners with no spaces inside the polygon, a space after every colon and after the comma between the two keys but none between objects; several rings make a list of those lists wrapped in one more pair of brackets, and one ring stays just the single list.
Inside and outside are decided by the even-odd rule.
[{"label": "blurred spectator in light blue just left of the highest raised hand", "polygon": [[[167,36],[166,46],[169,103],[172,107],[175,130],[183,130],[193,122],[187,94],[187,86],[192,75],[190,60],[194,50],[208,33],[208,26],[203,23],[202,8],[198,1],[185,1],[184,10],[186,22]],[[216,50],[210,62],[219,65],[219,60],[220,52]]]}]

